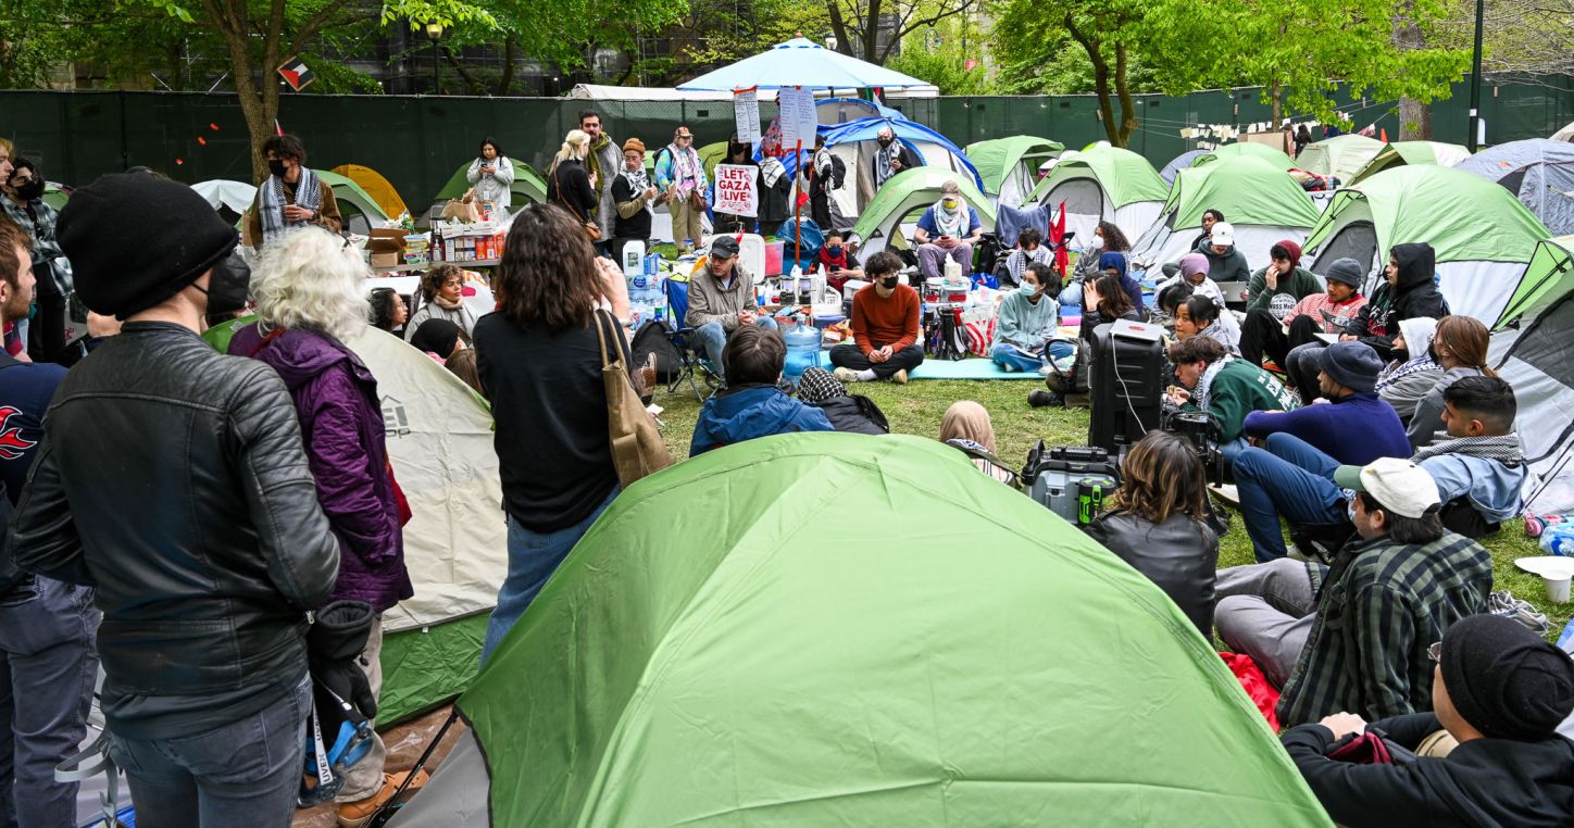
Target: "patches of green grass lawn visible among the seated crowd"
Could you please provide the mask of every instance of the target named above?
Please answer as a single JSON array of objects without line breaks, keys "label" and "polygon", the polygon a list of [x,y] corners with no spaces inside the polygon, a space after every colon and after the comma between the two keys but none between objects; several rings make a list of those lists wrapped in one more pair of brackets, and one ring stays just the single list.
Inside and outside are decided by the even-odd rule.
[{"label": "patches of green grass lawn visible among the seated crowd", "polygon": [[[988,409],[995,423],[996,453],[1007,464],[1020,464],[1039,438],[1044,438],[1047,445],[1084,445],[1088,442],[1088,409],[1031,408],[1028,392],[1037,387],[1042,386],[1028,381],[921,379],[907,386],[864,383],[855,390],[874,400],[885,411],[892,431],[927,438],[940,434],[940,419],[951,403],[976,400]],[[700,392],[705,394],[704,384]],[[656,405],[666,409],[661,420],[666,423],[663,438],[666,438],[667,449],[674,458],[686,458],[700,405],[688,386],[674,394],[656,392]],[[1492,589],[1508,589],[1546,612],[1552,623],[1549,638],[1555,639],[1563,625],[1568,623],[1574,604],[1549,604],[1541,579],[1514,567],[1516,557],[1541,554],[1536,542],[1525,537],[1522,524],[1516,519],[1503,524],[1502,532],[1487,538],[1486,548],[1492,553]],[[1251,542],[1247,540],[1240,518],[1236,516],[1229,532],[1221,538],[1218,565],[1234,567],[1251,562]]]}]

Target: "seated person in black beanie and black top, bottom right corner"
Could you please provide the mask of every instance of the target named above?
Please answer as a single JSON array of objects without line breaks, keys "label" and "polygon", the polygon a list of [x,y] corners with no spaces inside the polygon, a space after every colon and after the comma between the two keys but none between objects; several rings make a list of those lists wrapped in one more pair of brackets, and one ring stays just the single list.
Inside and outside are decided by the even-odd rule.
[{"label": "seated person in black beanie and black top, bottom right corner", "polygon": [[[1574,712],[1574,663],[1517,622],[1461,619],[1432,644],[1434,713],[1366,724],[1335,713],[1283,737],[1313,793],[1339,825],[1568,825],[1574,814],[1574,741],[1557,734]],[[1380,730],[1421,754],[1354,765],[1325,754],[1346,734]],[[1445,730],[1459,745],[1435,757]]]}]

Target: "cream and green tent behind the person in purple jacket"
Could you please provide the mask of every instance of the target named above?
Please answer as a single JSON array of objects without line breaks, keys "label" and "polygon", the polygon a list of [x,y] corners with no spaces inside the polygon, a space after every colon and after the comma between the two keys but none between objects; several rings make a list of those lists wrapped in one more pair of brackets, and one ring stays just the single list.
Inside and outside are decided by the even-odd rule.
[{"label": "cream and green tent behind the person in purple jacket", "polygon": [[386,726],[452,699],[475,675],[508,534],[485,400],[392,334],[367,329],[346,345],[378,378],[394,477],[412,515],[405,565],[416,595],[382,615]]}]

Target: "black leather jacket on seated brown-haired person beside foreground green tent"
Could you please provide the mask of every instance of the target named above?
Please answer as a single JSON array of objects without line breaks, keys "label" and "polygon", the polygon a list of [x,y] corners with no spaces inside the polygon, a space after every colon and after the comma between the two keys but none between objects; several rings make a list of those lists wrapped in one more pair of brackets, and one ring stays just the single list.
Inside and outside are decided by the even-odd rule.
[{"label": "black leather jacket on seated brown-haired person beside foreground green tent", "polygon": [[1111,512],[1086,529],[1088,535],[1136,571],[1158,584],[1203,638],[1214,641],[1214,581],[1218,568],[1218,535],[1185,515],[1149,523],[1132,513]]}]

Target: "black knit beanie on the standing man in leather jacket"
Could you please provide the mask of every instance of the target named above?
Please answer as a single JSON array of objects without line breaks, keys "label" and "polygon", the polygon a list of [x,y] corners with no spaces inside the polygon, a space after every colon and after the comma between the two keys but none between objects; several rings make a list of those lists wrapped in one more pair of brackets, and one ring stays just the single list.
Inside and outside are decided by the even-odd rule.
[{"label": "black knit beanie on the standing man in leather jacket", "polygon": [[74,190],[57,238],[82,302],[123,320],[186,290],[239,241],[195,190],[142,173]]}]

